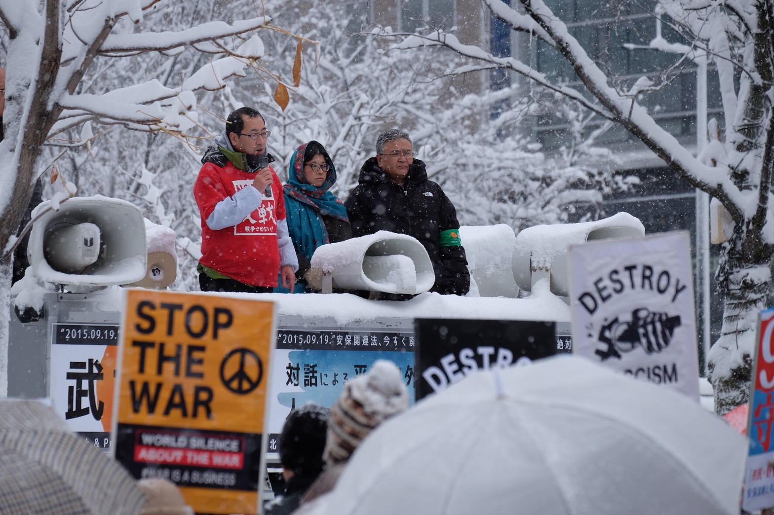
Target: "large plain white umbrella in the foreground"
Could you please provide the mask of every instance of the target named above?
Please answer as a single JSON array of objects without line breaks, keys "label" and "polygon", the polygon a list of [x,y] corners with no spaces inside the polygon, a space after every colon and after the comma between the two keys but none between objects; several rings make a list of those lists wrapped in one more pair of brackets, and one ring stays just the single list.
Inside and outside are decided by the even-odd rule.
[{"label": "large plain white umbrella in the foreground", "polygon": [[557,356],[472,373],[386,421],[321,511],[738,514],[746,448],[682,394]]}]

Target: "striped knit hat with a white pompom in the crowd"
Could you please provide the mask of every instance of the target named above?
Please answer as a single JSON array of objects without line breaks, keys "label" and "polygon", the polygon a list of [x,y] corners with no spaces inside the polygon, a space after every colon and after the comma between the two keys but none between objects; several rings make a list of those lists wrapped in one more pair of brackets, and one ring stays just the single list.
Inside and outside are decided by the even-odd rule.
[{"label": "striped knit hat with a white pompom in the crowd", "polygon": [[375,361],[368,373],[344,385],[330,408],[325,461],[346,462],[368,433],[408,407],[409,391],[399,368],[391,361]]}]

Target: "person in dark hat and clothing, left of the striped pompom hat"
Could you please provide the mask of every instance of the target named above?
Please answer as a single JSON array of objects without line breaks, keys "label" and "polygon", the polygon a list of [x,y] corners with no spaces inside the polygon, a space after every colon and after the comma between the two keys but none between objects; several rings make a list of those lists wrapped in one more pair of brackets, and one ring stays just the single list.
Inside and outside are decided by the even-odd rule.
[{"label": "person in dark hat and clothing, left of the striped pompom hat", "polygon": [[293,513],[320,472],[330,411],[308,402],[291,412],[279,435],[279,461],[283,466],[285,491],[266,505],[265,515]]}]

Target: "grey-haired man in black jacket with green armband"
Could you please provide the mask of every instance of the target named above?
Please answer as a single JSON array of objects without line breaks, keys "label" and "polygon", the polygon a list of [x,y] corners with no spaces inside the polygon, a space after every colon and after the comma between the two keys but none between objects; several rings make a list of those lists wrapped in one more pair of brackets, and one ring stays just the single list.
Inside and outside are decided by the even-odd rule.
[{"label": "grey-haired man in black jacket with green armband", "polygon": [[457,210],[437,182],[427,179],[405,131],[393,128],[378,136],[376,155],[363,164],[358,182],[344,202],[353,236],[389,230],[415,237],[435,270],[430,291],[465,295],[471,276]]}]

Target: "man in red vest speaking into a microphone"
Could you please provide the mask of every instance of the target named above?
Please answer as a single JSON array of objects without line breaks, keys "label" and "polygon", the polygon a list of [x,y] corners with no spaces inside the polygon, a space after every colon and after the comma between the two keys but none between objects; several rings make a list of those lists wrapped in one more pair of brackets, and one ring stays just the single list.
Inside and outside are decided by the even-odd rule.
[{"label": "man in red vest speaking into a microphone", "polygon": [[272,292],[278,272],[293,290],[298,260],[282,183],[269,166],[269,135],[258,111],[240,107],[201,159],[194,197],[201,214],[197,271],[203,292]]}]

